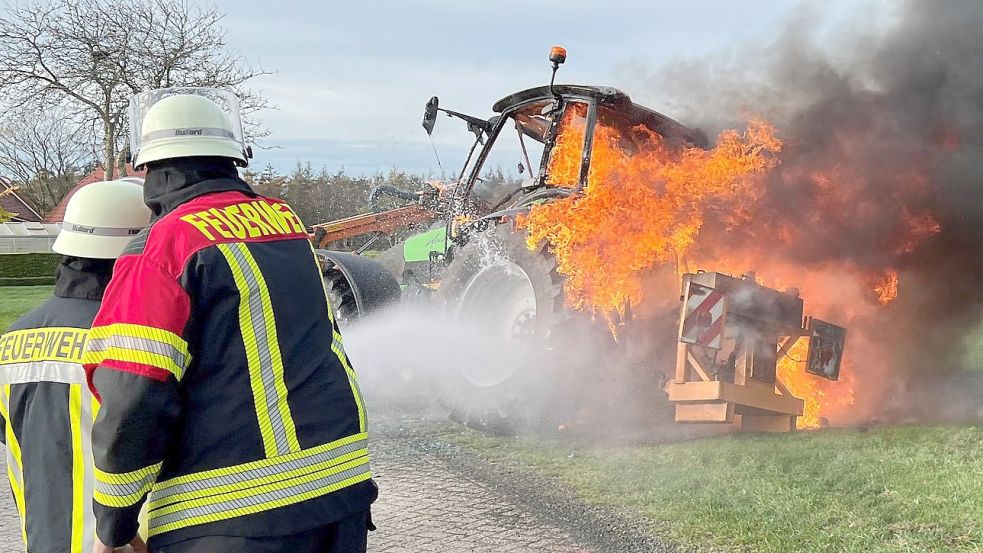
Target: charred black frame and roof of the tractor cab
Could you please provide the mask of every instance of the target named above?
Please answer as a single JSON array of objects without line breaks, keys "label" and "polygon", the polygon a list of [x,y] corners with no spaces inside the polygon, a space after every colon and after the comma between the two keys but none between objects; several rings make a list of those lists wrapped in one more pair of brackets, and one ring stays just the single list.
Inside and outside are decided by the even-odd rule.
[{"label": "charred black frame and roof of the tractor cab", "polygon": [[[534,203],[581,192],[589,184],[591,153],[599,125],[624,132],[644,126],[661,135],[670,148],[706,148],[708,144],[703,131],[636,104],[624,92],[606,86],[529,88],[495,102],[492,110],[496,115],[481,119],[443,109],[433,97],[424,112],[423,127],[428,134],[433,132],[438,112],[443,112],[463,120],[475,135],[442,214],[447,235],[458,243],[466,242],[471,230],[485,230],[488,220],[514,216]],[[575,158],[575,163],[571,166],[568,159],[560,171],[553,155],[557,140],[568,127],[578,155],[567,152],[566,157]],[[502,169],[501,164],[494,166],[490,160],[497,150],[504,149],[501,142],[511,133],[517,135],[516,166],[526,178],[486,182],[482,174]]]}]

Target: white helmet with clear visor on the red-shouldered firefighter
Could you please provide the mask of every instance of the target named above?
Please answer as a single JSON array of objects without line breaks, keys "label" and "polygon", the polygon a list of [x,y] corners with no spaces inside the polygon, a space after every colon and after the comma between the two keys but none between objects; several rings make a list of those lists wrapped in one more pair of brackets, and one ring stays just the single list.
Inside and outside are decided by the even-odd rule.
[{"label": "white helmet with clear visor on the red-shouldered firefighter", "polygon": [[178,157],[216,156],[248,164],[239,98],[215,88],[148,90],[130,100],[133,167]]}]

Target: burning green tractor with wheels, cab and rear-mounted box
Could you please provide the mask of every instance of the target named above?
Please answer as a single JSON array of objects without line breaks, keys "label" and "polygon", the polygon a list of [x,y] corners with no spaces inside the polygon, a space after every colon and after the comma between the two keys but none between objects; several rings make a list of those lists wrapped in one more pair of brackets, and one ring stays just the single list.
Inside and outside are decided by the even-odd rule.
[{"label": "burning green tractor with wheels, cab and rear-mounted box", "polygon": [[[551,51],[553,79],[565,58],[562,48]],[[681,294],[682,271],[663,266],[649,271],[658,284],[646,306],[628,305],[613,317],[571,306],[568,275],[558,270],[554,251],[529,243],[523,225],[530,212],[589,189],[592,152],[610,129],[625,136],[654,133],[671,153],[709,145],[699,129],[636,104],[619,90],[554,85],[553,79],[499,100],[492,107],[496,115],[487,119],[445,109],[432,98],[423,119],[428,134],[443,113],[475,136],[457,180],[416,193],[380,187],[373,202],[389,196],[408,203],[314,227],[339,322],[370,316],[393,302],[423,301],[478,321],[503,343],[521,345],[526,361],[491,370],[463,361],[453,381],[474,398],[460,418],[486,429],[510,427],[517,418],[562,421],[592,388],[611,380],[630,383],[634,391],[647,388],[648,401],[669,407],[677,422],[794,429],[803,401],[783,385],[777,364],[805,337],[809,370],[835,379],[845,336],[835,325],[804,320],[796,290],[766,288],[751,273],[701,271],[682,275]],[[621,140],[615,146],[619,155],[631,156],[633,144]],[[489,169],[503,166],[516,167],[524,178],[486,178]],[[372,237],[365,249],[414,225],[424,231],[376,259],[361,251],[323,249]],[[572,389],[577,392],[567,393]],[[544,390],[551,401],[529,401]]]}]

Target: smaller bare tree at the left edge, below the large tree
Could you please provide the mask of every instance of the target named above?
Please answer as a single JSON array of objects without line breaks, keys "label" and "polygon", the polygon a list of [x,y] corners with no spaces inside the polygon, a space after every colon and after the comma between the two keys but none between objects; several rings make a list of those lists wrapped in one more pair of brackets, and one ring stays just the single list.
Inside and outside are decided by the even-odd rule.
[{"label": "smaller bare tree at the left edge, below the large tree", "polygon": [[0,121],[0,170],[47,213],[99,159],[95,134],[60,108],[8,114]]}]

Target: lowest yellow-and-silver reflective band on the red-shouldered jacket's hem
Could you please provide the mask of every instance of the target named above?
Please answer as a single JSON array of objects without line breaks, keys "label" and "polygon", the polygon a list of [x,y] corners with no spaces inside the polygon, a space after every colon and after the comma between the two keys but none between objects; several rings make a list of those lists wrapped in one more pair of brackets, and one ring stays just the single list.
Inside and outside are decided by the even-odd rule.
[{"label": "lowest yellow-and-silver reflective band on the red-shouldered jacket's hem", "polygon": [[[347,475],[332,480],[333,477]],[[150,511],[150,536],[188,526],[237,518],[322,497],[372,478],[368,458],[362,457],[300,478],[203,498]],[[320,482],[329,482],[321,484]],[[292,491],[295,488],[296,491]],[[268,498],[268,499],[267,499]],[[250,502],[254,500],[254,502]],[[198,514],[201,513],[201,514]]]}]

